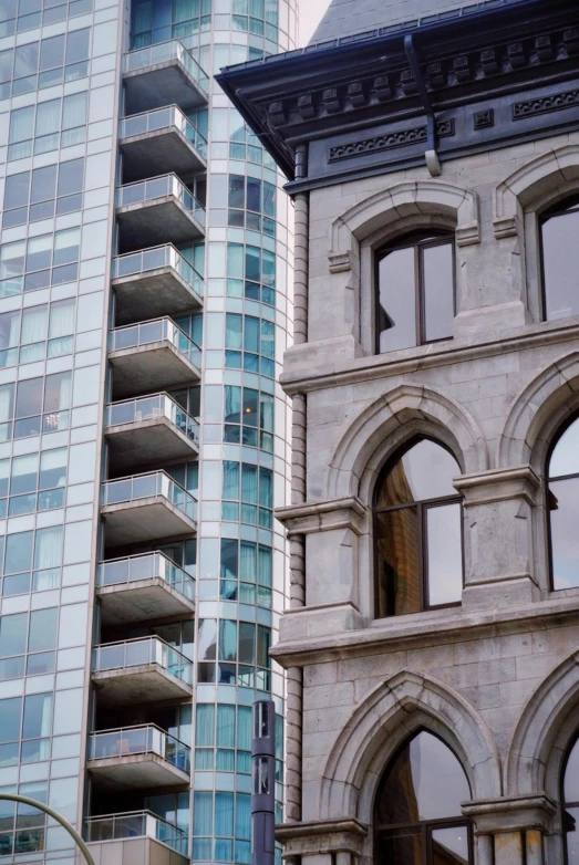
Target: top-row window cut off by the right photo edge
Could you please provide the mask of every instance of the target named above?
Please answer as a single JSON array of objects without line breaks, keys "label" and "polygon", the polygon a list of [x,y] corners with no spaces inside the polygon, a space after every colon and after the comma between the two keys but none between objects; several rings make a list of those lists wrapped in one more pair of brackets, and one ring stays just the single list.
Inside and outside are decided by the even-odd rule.
[{"label": "top-row window cut off by the right photo edge", "polygon": [[579,315],[579,200],[551,208],[541,217],[542,317]]}]

